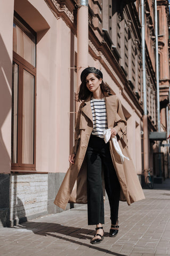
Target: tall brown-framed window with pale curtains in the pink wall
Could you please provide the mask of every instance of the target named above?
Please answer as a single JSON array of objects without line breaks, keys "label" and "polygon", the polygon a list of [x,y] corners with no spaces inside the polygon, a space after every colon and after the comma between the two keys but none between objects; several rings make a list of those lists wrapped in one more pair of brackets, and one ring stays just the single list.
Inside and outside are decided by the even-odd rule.
[{"label": "tall brown-framed window with pale curtains in the pink wall", "polygon": [[12,71],[12,170],[35,170],[36,33],[16,13]]}]

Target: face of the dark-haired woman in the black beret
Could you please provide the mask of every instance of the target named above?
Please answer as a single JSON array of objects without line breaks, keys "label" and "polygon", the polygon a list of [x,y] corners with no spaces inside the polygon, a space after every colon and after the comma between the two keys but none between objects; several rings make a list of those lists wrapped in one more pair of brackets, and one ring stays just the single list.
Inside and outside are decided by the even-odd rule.
[{"label": "face of the dark-haired woman in the black beret", "polygon": [[90,73],[86,77],[86,86],[88,90],[92,93],[100,91],[100,84],[102,79],[98,79],[94,73]]}]

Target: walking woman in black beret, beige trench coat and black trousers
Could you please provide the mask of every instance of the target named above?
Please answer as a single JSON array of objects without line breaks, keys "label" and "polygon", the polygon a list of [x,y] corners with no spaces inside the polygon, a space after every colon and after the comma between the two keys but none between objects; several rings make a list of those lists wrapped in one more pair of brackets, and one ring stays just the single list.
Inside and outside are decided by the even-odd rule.
[{"label": "walking woman in black beret, beige trench coat and black trousers", "polygon": [[[98,244],[104,238],[104,186],[111,208],[111,237],[118,233],[119,200],[130,205],[145,196],[126,146],[126,120],[120,100],[110,93],[99,69],[84,69],[81,82],[78,101],[82,103],[69,156],[72,165],[54,203],[63,209],[67,202],[87,203],[88,225],[96,225],[96,235],[90,242]],[[111,137],[117,137],[122,153],[130,161],[122,162],[111,140],[105,143],[106,129],[111,129]]]}]

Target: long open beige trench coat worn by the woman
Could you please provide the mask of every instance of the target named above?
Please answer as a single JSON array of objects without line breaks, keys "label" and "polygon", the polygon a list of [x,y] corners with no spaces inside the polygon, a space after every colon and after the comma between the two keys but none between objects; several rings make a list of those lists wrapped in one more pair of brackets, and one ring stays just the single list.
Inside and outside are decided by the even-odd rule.
[{"label": "long open beige trench coat worn by the woman", "polygon": [[[112,161],[121,185],[120,200],[126,201],[130,205],[135,201],[144,199],[145,196],[126,145],[126,120],[122,111],[121,102],[116,95],[107,94],[105,95],[105,99],[108,128],[112,129],[114,127],[116,129],[118,143],[122,149],[122,153],[130,158],[130,161],[124,159],[124,163],[122,164],[121,158],[116,153],[112,141],[109,141]],[[72,153],[76,154],[75,163],[66,172],[54,201],[57,206],[64,210],[68,202],[87,203],[86,150],[92,129],[93,121],[89,97],[89,99],[81,103],[75,125],[75,144],[72,151]]]}]

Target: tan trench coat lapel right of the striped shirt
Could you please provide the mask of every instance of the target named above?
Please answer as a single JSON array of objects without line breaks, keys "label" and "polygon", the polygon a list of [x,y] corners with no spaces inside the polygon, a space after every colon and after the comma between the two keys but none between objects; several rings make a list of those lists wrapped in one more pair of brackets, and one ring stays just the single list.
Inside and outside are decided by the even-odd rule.
[{"label": "tan trench coat lapel right of the striped shirt", "polygon": [[114,127],[115,118],[116,118],[116,100],[114,97],[106,97],[106,113],[107,113],[107,125],[108,129]]}]

